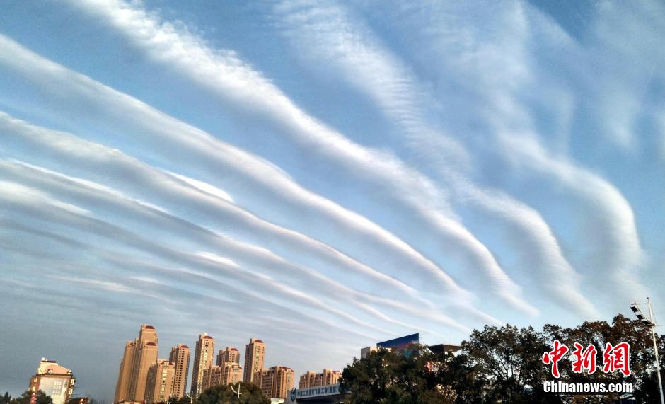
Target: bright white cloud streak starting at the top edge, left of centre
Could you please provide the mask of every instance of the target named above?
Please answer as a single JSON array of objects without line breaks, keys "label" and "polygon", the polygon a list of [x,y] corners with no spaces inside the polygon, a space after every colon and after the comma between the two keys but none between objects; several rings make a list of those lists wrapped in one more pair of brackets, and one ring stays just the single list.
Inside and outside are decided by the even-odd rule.
[{"label": "bright white cloud streak starting at the top edge, left of centre", "polygon": [[[537,312],[521,298],[520,288],[503,272],[492,253],[458,221],[449,218],[452,213],[444,203],[445,193],[426,176],[390,154],[351,142],[307,115],[233,52],[212,50],[199,37],[122,1],[91,0],[76,2],[76,5],[93,15],[103,16],[157,62],[168,64],[170,69],[185,74],[218,96],[249,105],[253,111],[269,117],[274,125],[281,127],[280,133],[299,147],[329,159],[354,175],[359,173],[364,180],[381,187],[391,199],[415,214],[421,226],[438,233],[444,243],[455,243],[456,248],[470,256],[470,266],[480,267],[488,274],[493,280],[493,291],[504,301],[526,313]],[[401,249],[404,248],[406,246]],[[458,289],[453,279],[434,262],[427,260],[423,269],[432,281]]]}]

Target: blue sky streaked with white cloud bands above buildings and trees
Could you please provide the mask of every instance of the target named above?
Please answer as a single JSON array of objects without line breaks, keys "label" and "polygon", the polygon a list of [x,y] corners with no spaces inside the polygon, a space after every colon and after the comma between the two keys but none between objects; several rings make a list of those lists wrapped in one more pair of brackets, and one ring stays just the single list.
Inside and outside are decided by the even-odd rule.
[{"label": "blue sky streaked with white cloud bands above buildings and trees", "polygon": [[49,357],[112,400],[140,323],[161,357],[260,337],[300,373],[414,332],[665,313],[664,17],[5,2],[0,391]]}]

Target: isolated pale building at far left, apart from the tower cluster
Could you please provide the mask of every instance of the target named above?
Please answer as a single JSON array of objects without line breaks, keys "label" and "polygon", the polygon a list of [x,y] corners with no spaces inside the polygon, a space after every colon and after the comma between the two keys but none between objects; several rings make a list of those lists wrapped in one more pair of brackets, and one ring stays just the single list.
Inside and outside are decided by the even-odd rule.
[{"label": "isolated pale building at far left, apart from the tower cluster", "polygon": [[43,391],[53,400],[53,404],[67,404],[74,393],[74,376],[71,370],[57,362],[42,358],[35,376],[30,378],[30,393]]}]

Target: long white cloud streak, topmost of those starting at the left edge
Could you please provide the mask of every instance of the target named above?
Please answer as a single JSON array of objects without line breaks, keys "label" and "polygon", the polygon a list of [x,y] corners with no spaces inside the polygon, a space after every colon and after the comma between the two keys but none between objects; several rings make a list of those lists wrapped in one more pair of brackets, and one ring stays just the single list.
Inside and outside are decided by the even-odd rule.
[{"label": "long white cloud streak, topmost of those starting at the left edge", "polygon": [[[318,215],[321,221],[330,226],[336,226],[347,239],[354,237],[371,243],[377,249],[393,257],[395,268],[383,268],[384,272],[393,271],[395,277],[403,277],[401,270],[405,265],[410,267],[412,275],[410,282],[418,282],[418,287],[432,289],[437,292],[444,291],[451,299],[468,299],[470,294],[463,290],[445,272],[437,267],[393,233],[386,231],[376,223],[370,221],[356,212],[345,209],[332,200],[306,190],[290,178],[276,171],[274,166],[247,152],[215,139],[201,130],[175,120],[141,103],[135,98],[103,86],[86,76],[76,74],[64,67],[54,64],[37,54],[26,50],[20,45],[0,36],[0,63],[10,69],[16,69],[26,79],[35,81],[39,86],[50,89],[50,96],[58,93],[67,93],[67,98],[78,97],[86,103],[97,105],[105,110],[106,117],[112,117],[120,122],[128,122],[131,117],[132,125],[141,128],[134,137],[134,142],[143,140],[148,142],[153,151],[159,151],[166,156],[178,156],[180,161],[187,158],[190,166],[201,165],[206,169],[214,166],[216,170],[223,170],[243,178],[243,187],[252,187],[258,194],[270,193],[294,212],[306,209]],[[62,86],[59,87],[59,86]],[[57,87],[57,88],[56,88]],[[5,123],[12,122],[4,120]],[[28,132],[35,132],[33,137],[40,137],[40,129],[32,128]],[[144,139],[139,139],[139,137]],[[66,151],[71,158],[80,154],[95,154],[96,160],[103,162],[112,159],[119,151],[113,151],[98,144],[86,144],[82,149],[76,150],[72,146],[71,137],[56,137],[53,140],[57,147]],[[86,148],[91,148],[86,150]],[[438,216],[438,215],[437,215]],[[297,215],[295,216],[297,218]],[[446,220],[446,219],[442,219]],[[392,274],[391,274],[392,275]]]}]

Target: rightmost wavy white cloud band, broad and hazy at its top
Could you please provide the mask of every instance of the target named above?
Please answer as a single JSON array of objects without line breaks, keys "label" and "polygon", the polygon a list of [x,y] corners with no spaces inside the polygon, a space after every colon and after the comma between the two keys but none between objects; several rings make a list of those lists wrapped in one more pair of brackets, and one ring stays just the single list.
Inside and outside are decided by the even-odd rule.
[{"label": "rightmost wavy white cloud band, broad and hazy at its top", "polygon": [[[458,125],[467,122],[482,127],[478,139],[470,144],[484,152],[483,156],[507,164],[507,169],[494,164],[492,170],[502,170],[502,175],[536,177],[532,192],[565,195],[572,202],[572,214],[584,209],[584,215],[573,225],[581,233],[592,229],[579,242],[595,251],[592,261],[596,267],[591,271],[584,268],[582,275],[587,279],[602,276],[609,280],[602,282],[602,287],[631,296],[639,294],[642,287],[636,270],[643,251],[630,203],[609,180],[562,151],[548,149],[536,125],[539,111],[533,104],[547,107],[553,102],[547,98],[553,91],[567,94],[568,102],[576,105],[586,101],[579,100],[580,94],[570,93],[569,88],[577,84],[585,91],[586,83],[595,82],[601,74],[585,70],[589,60],[584,52],[588,50],[582,45],[588,45],[577,44],[562,34],[527,3],[497,4],[473,16],[457,4],[419,7],[405,5],[391,15],[392,21],[395,29],[410,30],[412,54],[420,73],[439,81],[439,86],[453,83],[458,88],[458,93],[449,95],[459,104],[452,112]],[[427,14],[427,24],[420,21],[421,14],[416,10]],[[550,59],[555,56],[556,60]],[[561,71],[555,71],[553,64]],[[569,120],[569,112],[561,119]],[[603,120],[603,115],[598,119]],[[565,123],[559,126],[570,129]],[[547,241],[547,234],[543,236]],[[596,285],[598,282],[591,282],[590,286]]]}]

